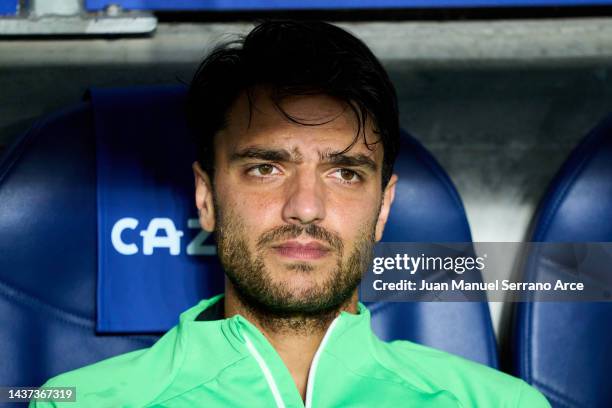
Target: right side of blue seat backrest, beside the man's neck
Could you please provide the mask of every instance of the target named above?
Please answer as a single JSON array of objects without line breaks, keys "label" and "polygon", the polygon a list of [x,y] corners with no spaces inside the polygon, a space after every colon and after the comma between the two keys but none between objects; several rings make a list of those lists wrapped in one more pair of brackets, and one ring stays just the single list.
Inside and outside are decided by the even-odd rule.
[{"label": "right side of blue seat backrest, beside the man's neck", "polygon": [[[399,176],[383,242],[471,242],[461,198],[435,158],[404,134],[395,164]],[[486,302],[377,302],[368,304],[374,331],[498,366]]]}]

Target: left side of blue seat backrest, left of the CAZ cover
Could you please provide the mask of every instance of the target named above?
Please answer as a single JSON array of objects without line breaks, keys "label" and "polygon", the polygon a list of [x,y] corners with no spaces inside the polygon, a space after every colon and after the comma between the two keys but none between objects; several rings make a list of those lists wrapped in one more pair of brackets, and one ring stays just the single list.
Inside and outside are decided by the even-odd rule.
[{"label": "left side of blue seat backrest, left of the CAZ cover", "polygon": [[96,336],[96,173],[91,105],[33,126],[0,163],[0,382],[52,375],[151,345]]}]

